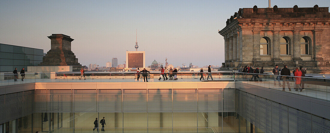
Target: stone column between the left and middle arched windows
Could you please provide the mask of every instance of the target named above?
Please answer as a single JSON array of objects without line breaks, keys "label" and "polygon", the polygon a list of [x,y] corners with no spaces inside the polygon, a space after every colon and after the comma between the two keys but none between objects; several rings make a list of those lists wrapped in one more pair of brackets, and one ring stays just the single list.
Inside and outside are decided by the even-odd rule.
[{"label": "stone column between the left and middle arched windows", "polygon": [[272,60],[280,61],[281,60],[281,47],[280,47],[280,31],[273,31],[273,42],[272,43]]}]

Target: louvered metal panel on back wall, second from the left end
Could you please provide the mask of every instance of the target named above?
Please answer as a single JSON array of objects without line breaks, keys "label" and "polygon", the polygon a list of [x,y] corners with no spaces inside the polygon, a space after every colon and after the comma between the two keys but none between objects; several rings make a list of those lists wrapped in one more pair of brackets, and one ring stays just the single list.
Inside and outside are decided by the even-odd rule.
[{"label": "louvered metal panel on back wall, second from the left end", "polygon": [[49,90],[48,112],[71,112],[72,90]]}]

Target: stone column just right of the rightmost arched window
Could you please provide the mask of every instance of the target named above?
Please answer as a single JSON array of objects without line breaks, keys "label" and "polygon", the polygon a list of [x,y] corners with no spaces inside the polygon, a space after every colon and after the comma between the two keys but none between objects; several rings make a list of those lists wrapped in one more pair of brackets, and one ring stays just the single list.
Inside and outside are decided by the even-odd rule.
[{"label": "stone column just right of the rightmost arched window", "polygon": [[[324,39],[322,40],[321,37],[322,37],[322,31],[323,30],[313,30],[313,37],[314,37],[314,40],[315,40],[315,52],[313,52],[315,54],[315,57],[313,58],[315,61],[322,61],[323,60],[323,57],[322,57],[322,54],[325,54],[322,52],[322,44],[324,43],[328,43],[328,42],[325,42]],[[309,42],[310,44],[309,45],[312,45],[311,42]],[[312,52],[312,51],[310,51]]]}]

